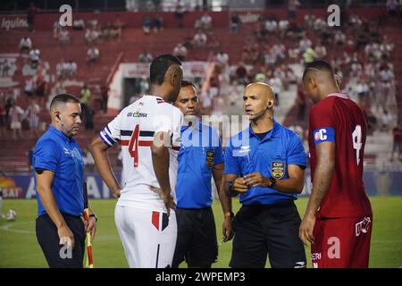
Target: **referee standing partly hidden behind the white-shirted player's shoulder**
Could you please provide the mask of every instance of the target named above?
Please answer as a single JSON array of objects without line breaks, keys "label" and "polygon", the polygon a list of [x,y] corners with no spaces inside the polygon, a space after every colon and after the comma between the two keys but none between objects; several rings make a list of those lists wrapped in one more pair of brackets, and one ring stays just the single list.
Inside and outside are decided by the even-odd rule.
[{"label": "referee standing partly hidden behind the white-shirted player's shoulder", "polygon": [[199,122],[197,88],[181,81],[174,105],[185,115],[188,124],[181,127],[179,171],[176,186],[178,235],[172,267],[186,261],[190,268],[210,268],[218,257],[218,243],[212,205],[211,177],[218,189],[224,220],[223,241],[231,240],[231,198],[222,189],[223,161],[219,135]]}]

